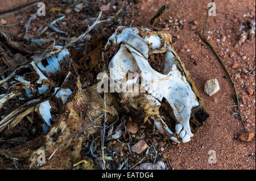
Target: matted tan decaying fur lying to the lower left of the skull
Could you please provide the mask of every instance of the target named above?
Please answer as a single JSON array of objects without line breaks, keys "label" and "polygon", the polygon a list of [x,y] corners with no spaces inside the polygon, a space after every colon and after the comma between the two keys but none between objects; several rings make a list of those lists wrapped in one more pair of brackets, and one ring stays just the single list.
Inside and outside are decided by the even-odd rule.
[{"label": "matted tan decaying fur lying to the lower left of the skull", "polygon": [[[53,125],[46,135],[46,143],[38,150],[44,150],[46,153],[46,163],[38,166],[38,150],[30,157],[30,169],[72,169],[74,163],[81,160],[82,143],[89,139],[92,134],[100,131],[102,120],[98,119],[92,126],[85,129],[84,132],[73,137],[63,146],[57,149],[57,146],[67,141],[70,137],[79,132],[86,125],[92,123],[90,120],[96,120],[104,113],[104,101],[96,90],[97,85],[89,87],[86,90],[81,89],[81,83],[77,82],[77,91],[72,101],[67,103],[64,112],[60,113],[57,122]],[[112,123],[117,115],[113,107],[106,106],[108,123]],[[55,151],[52,158],[49,156]]]}]

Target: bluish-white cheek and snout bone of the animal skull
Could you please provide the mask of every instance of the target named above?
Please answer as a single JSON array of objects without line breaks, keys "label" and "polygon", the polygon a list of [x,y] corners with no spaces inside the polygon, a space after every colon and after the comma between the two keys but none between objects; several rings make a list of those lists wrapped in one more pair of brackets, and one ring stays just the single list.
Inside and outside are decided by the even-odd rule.
[{"label": "bluish-white cheek and snout bone of the animal skull", "polygon": [[[145,90],[159,100],[162,100],[163,97],[166,98],[174,110],[177,121],[183,125],[190,136],[193,136],[189,119],[191,109],[199,106],[199,103],[191,86],[185,81],[184,75],[181,75],[176,64],[171,65],[171,71],[168,75],[160,74],[151,68],[148,61],[142,57],[142,54],[129,45],[125,46],[130,50],[141,70],[141,75],[144,79],[142,82],[146,82],[146,85],[144,85]],[[148,75],[151,77],[149,80],[147,79]]]}]

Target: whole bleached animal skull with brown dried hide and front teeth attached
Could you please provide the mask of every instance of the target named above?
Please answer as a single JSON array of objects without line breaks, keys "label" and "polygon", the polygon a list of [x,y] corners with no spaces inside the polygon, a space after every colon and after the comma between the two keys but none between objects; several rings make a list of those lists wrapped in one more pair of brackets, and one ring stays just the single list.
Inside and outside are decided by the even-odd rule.
[{"label": "whole bleached animal skull with brown dried hide and front teeth attached", "polygon": [[[121,102],[130,110],[142,112],[144,121],[154,120],[158,131],[168,134],[171,140],[191,140],[191,125],[199,127],[209,114],[196,94],[188,71],[172,48],[171,35],[166,31],[121,26],[109,37],[105,48],[116,52],[109,62],[110,82],[114,82],[118,88],[120,85],[138,85],[139,91],[120,92]],[[157,58],[159,55],[160,59]],[[164,62],[162,73],[150,66],[150,60]],[[129,73],[138,74],[127,79]],[[160,106],[166,103],[167,110],[171,110],[170,116],[176,121],[173,131],[159,112]]]}]

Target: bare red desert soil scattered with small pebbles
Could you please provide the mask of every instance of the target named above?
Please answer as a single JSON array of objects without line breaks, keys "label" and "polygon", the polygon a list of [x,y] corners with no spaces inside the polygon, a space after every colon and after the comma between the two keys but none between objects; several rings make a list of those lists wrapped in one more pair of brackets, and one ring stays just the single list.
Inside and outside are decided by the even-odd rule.
[{"label": "bare red desert soil scattered with small pebbles", "polygon": [[[0,11],[25,2],[29,1],[1,0],[3,6],[0,7]],[[211,1],[148,0],[139,1],[137,5],[128,5],[128,11],[134,11],[136,15],[133,26],[141,26],[144,22],[148,22],[161,6],[170,5],[170,9],[155,23],[155,26],[168,28],[171,32],[174,37],[174,47],[185,67],[192,74],[197,89],[204,99],[205,107],[210,113],[210,117],[191,141],[166,146],[164,155],[169,158],[170,169],[175,170],[255,169],[255,137],[250,142],[237,139],[244,131],[241,121],[232,115],[236,106],[232,98],[234,95],[232,83],[212,50],[200,40],[199,33],[209,2]],[[253,15],[255,20],[255,1],[216,1],[216,7],[216,16],[209,16],[205,36],[209,36],[210,43],[221,55],[232,75],[238,95],[243,100],[241,113],[246,120],[245,127],[255,134],[255,38],[234,48],[238,41],[237,37],[241,34],[239,29],[242,23],[251,20]],[[172,25],[170,23],[171,19],[182,20],[184,27],[175,31],[173,23]],[[5,20],[8,23],[15,23],[15,16]],[[128,24],[132,20],[126,19]],[[17,35],[19,28],[12,27],[10,32]],[[224,36],[225,41],[223,41]],[[238,64],[236,69],[232,68],[234,64]],[[243,69],[251,69],[253,72],[245,77],[241,71]],[[213,78],[218,80],[220,91],[208,96],[204,93],[204,84],[208,79]],[[253,95],[248,93],[248,88],[253,90]],[[212,165],[208,163],[209,150],[216,151],[217,160]]]}]

